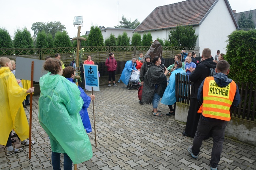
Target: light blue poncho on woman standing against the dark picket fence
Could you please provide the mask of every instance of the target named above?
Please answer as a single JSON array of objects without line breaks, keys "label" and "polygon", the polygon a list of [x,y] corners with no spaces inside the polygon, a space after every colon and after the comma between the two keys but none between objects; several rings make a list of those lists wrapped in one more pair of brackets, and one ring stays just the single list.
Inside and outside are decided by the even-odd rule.
[{"label": "light blue poncho on woman standing against the dark picket fence", "polygon": [[166,104],[166,105],[173,105],[176,102],[176,96],[175,96],[175,75],[177,73],[181,73],[181,74],[186,74],[186,72],[182,69],[179,68],[177,70],[174,70],[170,76],[170,83],[168,84],[168,86],[165,89],[165,92],[163,93],[163,97],[161,100],[162,104]]}]

